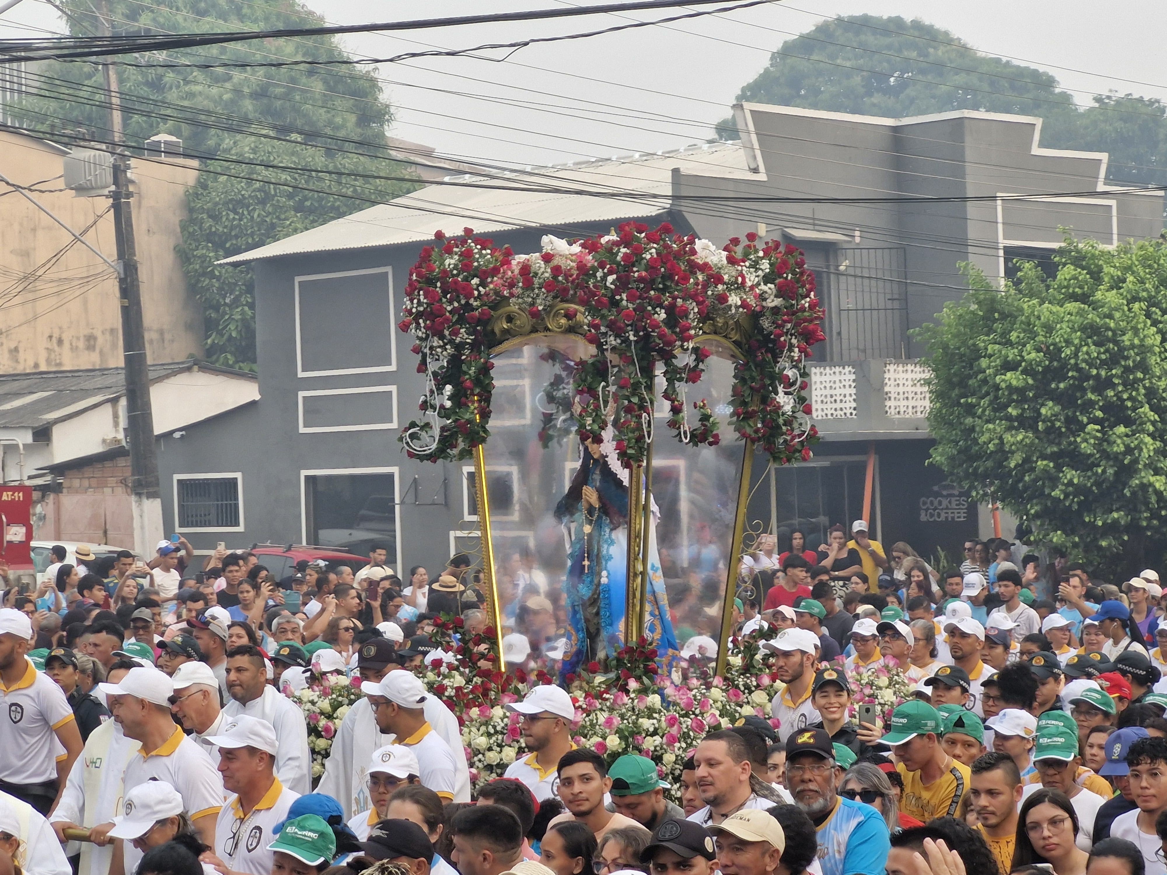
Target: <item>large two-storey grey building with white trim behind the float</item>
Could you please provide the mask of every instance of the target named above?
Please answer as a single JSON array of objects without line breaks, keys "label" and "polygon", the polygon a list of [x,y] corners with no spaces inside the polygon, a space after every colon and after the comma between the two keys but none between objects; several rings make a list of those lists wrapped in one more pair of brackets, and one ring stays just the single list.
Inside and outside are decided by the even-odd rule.
[{"label": "large two-storey grey building with white trim behind the float", "polygon": [[[1162,194],[1105,186],[1105,154],[1040,148],[1034,118],[735,112],[741,142],[447,177],[228,259],[256,271],[260,399],[188,427],[160,464],[163,495],[180,478],[201,482],[205,495],[230,480],[245,512],[225,509],[222,519],[237,525],[217,526],[215,512],[183,506],[175,491],[167,531],[201,550],[272,540],[363,552],[385,540],[391,562],[396,553],[398,567],[433,573],[475,528],[475,509],[468,463],[415,463],[397,440],[422,393],[412,338],[396,328],[418,250],[439,228],[469,225],[532,252],[546,233],[582,236],[637,218],[719,243],[748,231],[778,236],[817,271],[827,341],[816,349],[811,390],[824,440],[805,464],[768,469],[759,460],[755,478],[768,482],[750,504],[756,524],[780,542],[801,527],[817,546],[830,524],[859,518],[871,460],[872,531],[888,546],[907,540],[924,555],[937,547],[951,555],[980,519],[927,466],[928,397],[910,329],[960,298],[960,262],[993,279],[1009,275],[1014,258],[1048,262],[1060,228],[1105,244],[1153,237]],[[496,372],[496,419],[533,424],[540,365],[510,364]],[[522,503],[527,464],[516,456],[491,473],[502,501]],[[198,525],[183,524],[193,519]],[[551,534],[516,530],[536,546]]]}]

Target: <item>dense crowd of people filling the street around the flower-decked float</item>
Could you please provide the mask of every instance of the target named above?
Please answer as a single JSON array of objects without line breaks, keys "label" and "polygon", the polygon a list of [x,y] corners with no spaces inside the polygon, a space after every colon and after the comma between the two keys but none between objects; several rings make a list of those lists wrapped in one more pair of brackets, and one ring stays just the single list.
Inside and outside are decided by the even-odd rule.
[{"label": "dense crowd of people filling the street around the flower-decked float", "polygon": [[[781,688],[676,751],[677,785],[578,747],[552,682],[499,702],[526,752],[473,784],[414,671],[446,657],[439,616],[488,625],[464,556],[433,583],[376,546],[281,581],[247,552],[195,576],[181,539],[58,565],[0,608],[0,875],[1167,875],[1158,574],[1113,587],[1007,542],[934,569],[846,536],[743,560],[735,634]],[[550,617],[515,664],[554,663]],[[878,666],[908,691],[886,722],[857,701]],[[314,774],[295,694],[329,674],[362,695]]]}]

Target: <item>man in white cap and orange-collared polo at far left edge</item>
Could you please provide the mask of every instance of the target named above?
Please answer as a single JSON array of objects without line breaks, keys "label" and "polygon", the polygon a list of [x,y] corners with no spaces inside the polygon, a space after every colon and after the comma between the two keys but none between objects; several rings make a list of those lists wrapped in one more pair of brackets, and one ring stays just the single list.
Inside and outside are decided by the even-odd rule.
[{"label": "man in white cap and orange-collared polo at far left edge", "polygon": [[[32,638],[27,614],[0,608],[0,790],[48,814],[82,740],[61,687],[25,656]],[[57,761],[61,748],[65,755]]]}]

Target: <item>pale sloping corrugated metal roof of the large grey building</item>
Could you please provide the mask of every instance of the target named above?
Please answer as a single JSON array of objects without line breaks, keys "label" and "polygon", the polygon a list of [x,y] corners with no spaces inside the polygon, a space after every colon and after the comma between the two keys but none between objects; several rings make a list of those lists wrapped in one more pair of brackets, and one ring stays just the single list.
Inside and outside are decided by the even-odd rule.
[{"label": "pale sloping corrugated metal roof of the large grey building", "polygon": [[[491,184],[584,189],[545,192],[426,186],[387,204],[329,222],[310,231],[260,246],[218,264],[233,265],[309,252],[390,246],[433,238],[436,229],[461,231],[466,225],[480,233],[515,228],[571,228],[582,222],[607,222],[648,216],[668,208],[672,169],[724,178],[756,178],[746,167],[739,142],[699,144],[680,149],[637,154],[612,160],[575,162],[561,167],[517,172],[503,178],[453,176],[449,181],[488,181]],[[603,191],[635,191],[638,197],[605,197]]]}]

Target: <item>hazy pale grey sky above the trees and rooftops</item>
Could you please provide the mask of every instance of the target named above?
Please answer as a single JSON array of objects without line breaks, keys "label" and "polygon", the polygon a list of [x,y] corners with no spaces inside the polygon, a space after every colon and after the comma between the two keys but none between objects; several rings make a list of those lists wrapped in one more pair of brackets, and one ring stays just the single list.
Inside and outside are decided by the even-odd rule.
[{"label": "hazy pale grey sky above the trees and rooftops", "polygon": [[[435,7],[403,0],[309,0],[308,5],[329,22],[356,23],[575,4],[448,0]],[[1079,103],[1089,103],[1090,92],[1107,91],[1167,99],[1162,66],[1167,5],[1112,2],[1105,6],[1104,19],[1097,2],[1063,0],[1056,14],[1053,8],[1048,0],[792,0],[534,46],[504,62],[499,60],[505,52],[495,50],[484,52],[495,60],[425,58],[377,69],[385,97],[397,107],[393,135],[435,146],[452,156],[508,163],[655,152],[707,139],[712,125],[728,114],[738,90],[767,64],[773,49],[825,16],[857,13],[920,18],[946,28],[981,51],[1049,70],[1063,88],[1078,90]],[[44,0],[23,0],[0,20],[0,37],[35,33],[14,24],[58,27]],[[628,20],[603,15],[445,28],[419,32],[414,38],[361,34],[345,37],[345,46],[358,55],[386,57],[600,29]]]}]

